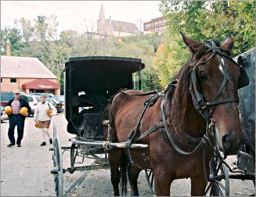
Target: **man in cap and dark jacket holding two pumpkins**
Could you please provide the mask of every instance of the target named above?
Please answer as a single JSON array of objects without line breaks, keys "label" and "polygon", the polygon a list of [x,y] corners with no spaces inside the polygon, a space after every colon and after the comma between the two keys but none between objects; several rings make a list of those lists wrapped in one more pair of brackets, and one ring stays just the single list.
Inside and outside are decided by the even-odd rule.
[{"label": "man in cap and dark jacket holding two pumpkins", "polygon": [[[9,100],[8,106],[11,106],[13,108],[13,113],[9,115],[8,137],[10,143],[7,146],[11,147],[15,145],[14,129],[17,126],[18,138],[16,141],[16,145],[17,147],[20,147],[21,140],[23,138],[25,118],[31,113],[31,107],[25,99],[20,98],[19,90],[14,91],[14,99]],[[20,114],[20,109],[22,107],[27,107],[27,113]]]}]

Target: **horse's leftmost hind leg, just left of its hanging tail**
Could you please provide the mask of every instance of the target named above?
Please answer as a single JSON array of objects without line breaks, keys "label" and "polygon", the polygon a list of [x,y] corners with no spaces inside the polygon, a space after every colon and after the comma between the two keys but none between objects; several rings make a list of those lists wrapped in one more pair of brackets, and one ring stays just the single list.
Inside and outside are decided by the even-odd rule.
[{"label": "horse's leftmost hind leg, just left of its hanging tail", "polygon": [[121,161],[122,149],[113,149],[108,152],[111,172],[111,183],[114,189],[114,195],[119,195],[118,184],[120,181],[119,164]]}]

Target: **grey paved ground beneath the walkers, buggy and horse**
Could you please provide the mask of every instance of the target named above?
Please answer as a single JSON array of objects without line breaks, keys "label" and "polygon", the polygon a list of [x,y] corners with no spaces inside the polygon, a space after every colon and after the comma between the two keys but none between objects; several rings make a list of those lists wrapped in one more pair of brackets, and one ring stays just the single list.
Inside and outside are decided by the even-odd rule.
[{"label": "grey paved ground beneath the walkers, buggy and horse", "polygon": [[[66,131],[67,121],[64,114],[54,117],[57,123],[57,134],[62,146],[70,146],[69,138],[73,134]],[[3,196],[54,196],[52,170],[51,145],[40,146],[41,134],[34,127],[32,117],[25,122],[24,137],[21,147],[9,144],[7,131],[9,120],[1,124],[1,195]],[[52,125],[50,126],[52,132]],[[63,168],[70,167],[70,152],[63,154]],[[236,159],[235,157],[230,159]],[[92,160],[85,160],[90,164]],[[83,163],[83,164],[85,164]],[[139,175],[140,195],[153,195],[146,184],[145,174]],[[189,179],[174,181],[171,184],[171,195],[184,196],[190,192]],[[254,193],[252,181],[230,180],[231,195],[251,195]],[[129,189],[128,189],[129,192]],[[111,196],[112,185],[110,182],[110,170],[77,171],[74,174],[64,174],[64,194],[70,196]],[[128,193],[129,195],[129,193]]]}]

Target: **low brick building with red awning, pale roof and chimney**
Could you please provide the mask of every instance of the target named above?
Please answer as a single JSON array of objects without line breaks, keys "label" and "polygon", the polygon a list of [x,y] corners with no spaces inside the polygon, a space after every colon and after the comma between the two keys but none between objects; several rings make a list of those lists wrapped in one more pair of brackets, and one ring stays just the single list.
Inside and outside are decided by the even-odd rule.
[{"label": "low brick building with red awning, pale roof and chimney", "polygon": [[1,56],[1,91],[60,94],[57,77],[38,58],[10,56],[9,42],[5,55]]}]

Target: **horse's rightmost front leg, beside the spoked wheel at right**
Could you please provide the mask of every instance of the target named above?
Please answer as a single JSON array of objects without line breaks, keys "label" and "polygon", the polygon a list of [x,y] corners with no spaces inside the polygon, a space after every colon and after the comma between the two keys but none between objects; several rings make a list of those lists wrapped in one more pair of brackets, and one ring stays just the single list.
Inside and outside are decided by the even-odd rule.
[{"label": "horse's rightmost front leg, beside the spoked wheel at right", "polygon": [[202,196],[207,185],[204,180],[204,174],[197,177],[191,177],[191,195]]}]

